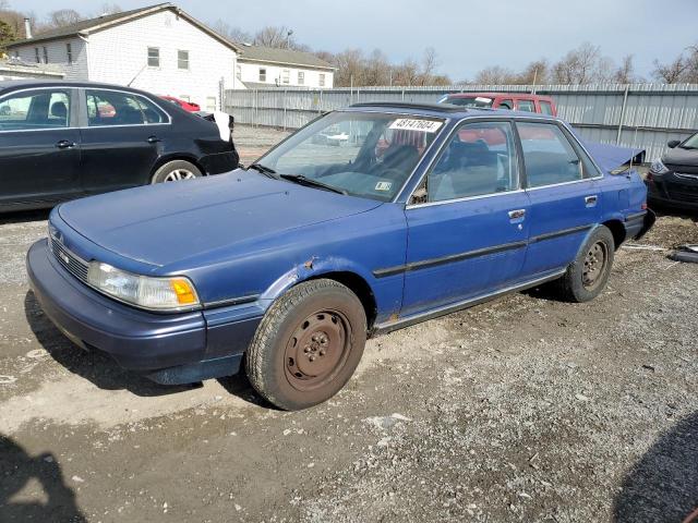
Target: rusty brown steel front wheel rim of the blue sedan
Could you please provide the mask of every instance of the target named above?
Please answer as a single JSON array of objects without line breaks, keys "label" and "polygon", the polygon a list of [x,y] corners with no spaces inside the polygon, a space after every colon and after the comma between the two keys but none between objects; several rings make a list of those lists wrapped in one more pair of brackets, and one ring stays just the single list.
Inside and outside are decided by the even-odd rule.
[{"label": "rusty brown steel front wheel rim of the blue sedan", "polygon": [[286,344],[286,378],[300,390],[332,381],[351,350],[351,326],[338,311],[318,311],[301,321]]}]

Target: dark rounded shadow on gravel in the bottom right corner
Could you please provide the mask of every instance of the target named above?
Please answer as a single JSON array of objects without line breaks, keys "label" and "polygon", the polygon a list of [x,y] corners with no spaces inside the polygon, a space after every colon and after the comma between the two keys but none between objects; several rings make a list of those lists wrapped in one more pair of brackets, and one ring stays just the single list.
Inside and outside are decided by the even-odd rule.
[{"label": "dark rounded shadow on gravel in the bottom right corner", "polygon": [[[698,412],[663,434],[630,469],[615,521],[698,522]],[[693,518],[690,518],[693,515]]]}]

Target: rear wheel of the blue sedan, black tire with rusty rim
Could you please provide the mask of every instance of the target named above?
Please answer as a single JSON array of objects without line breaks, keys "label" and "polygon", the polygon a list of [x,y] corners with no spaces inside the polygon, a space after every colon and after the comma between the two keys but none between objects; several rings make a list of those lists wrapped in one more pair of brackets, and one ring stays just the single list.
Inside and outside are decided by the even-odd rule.
[{"label": "rear wheel of the blue sedan, black tire with rusty rim", "polygon": [[577,259],[557,282],[561,297],[583,303],[601,294],[611,276],[614,254],[615,242],[611,231],[604,226],[594,229]]}]

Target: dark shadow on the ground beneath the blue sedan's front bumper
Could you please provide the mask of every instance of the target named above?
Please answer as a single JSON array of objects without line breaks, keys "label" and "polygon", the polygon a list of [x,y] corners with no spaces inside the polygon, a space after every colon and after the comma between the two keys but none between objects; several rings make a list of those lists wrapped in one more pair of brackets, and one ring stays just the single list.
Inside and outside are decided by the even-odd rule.
[{"label": "dark shadow on the ground beneath the blue sedan's front bumper", "polygon": [[127,389],[135,396],[156,397],[191,390],[201,384],[163,386],[122,369],[111,357],[98,351],[87,352],[71,342],[41,311],[34,293],[24,296],[24,315],[32,331],[49,355],[73,374],[105,390]]}]

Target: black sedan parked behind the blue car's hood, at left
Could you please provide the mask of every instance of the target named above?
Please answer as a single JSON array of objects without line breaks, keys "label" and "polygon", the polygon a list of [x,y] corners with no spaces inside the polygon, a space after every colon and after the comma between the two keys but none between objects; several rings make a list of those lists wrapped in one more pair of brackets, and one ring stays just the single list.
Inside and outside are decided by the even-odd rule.
[{"label": "black sedan parked behind the blue car's hood, at left", "polygon": [[222,134],[137,89],[0,82],[0,211],[231,171],[239,156]]}]

